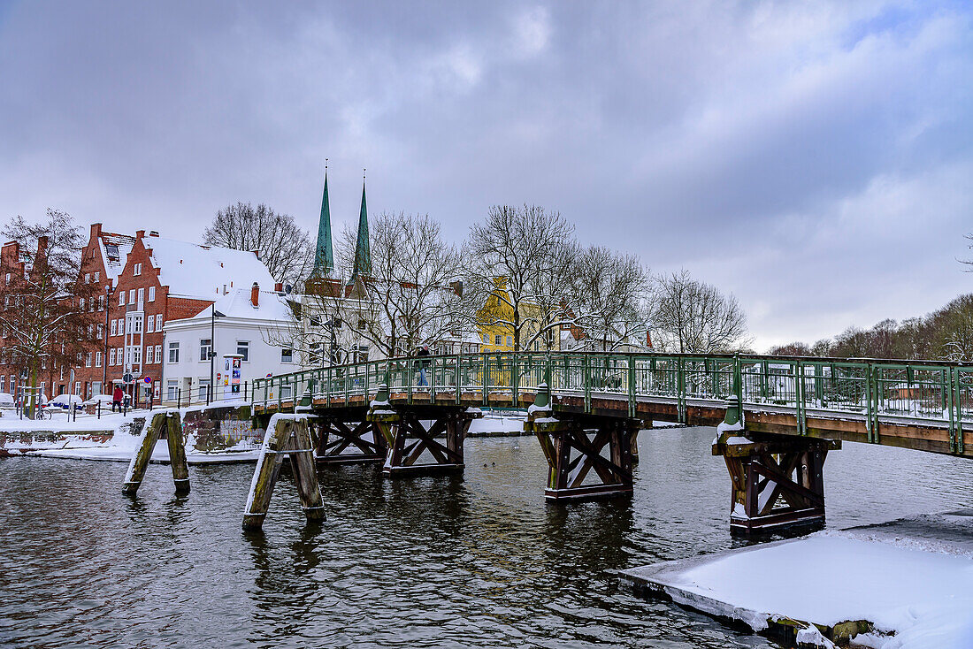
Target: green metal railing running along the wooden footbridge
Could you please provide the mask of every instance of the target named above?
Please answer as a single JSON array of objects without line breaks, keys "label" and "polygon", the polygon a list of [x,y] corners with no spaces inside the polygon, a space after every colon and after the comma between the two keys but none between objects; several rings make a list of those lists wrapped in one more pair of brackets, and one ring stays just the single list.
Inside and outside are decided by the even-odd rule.
[{"label": "green metal railing running along the wooden footbridge", "polygon": [[[948,427],[951,447],[962,450],[962,424],[973,422],[973,365],[936,361],[837,359],[728,354],[619,354],[598,352],[480,353],[427,356],[429,385],[419,384],[419,361],[392,358],[305,370],[254,381],[254,403],[315,400],[344,403],[371,397],[378,385],[405,393],[410,403],[476,393],[517,399],[547,382],[555,394],[670,400],[685,421],[690,404],[735,400],[745,410],[783,410],[807,417],[862,417],[869,441],[879,441],[880,417]],[[735,390],[739,385],[739,394]]]}]

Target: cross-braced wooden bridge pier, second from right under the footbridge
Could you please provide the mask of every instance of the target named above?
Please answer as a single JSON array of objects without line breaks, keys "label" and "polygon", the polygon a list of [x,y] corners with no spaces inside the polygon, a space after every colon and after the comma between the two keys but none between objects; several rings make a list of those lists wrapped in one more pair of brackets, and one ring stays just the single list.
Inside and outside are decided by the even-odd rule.
[{"label": "cross-braced wooden bridge pier, second from right under the footbridge", "polygon": [[544,495],[556,501],[631,495],[631,451],[640,426],[629,417],[529,414],[524,428],[537,436],[550,467]]}]

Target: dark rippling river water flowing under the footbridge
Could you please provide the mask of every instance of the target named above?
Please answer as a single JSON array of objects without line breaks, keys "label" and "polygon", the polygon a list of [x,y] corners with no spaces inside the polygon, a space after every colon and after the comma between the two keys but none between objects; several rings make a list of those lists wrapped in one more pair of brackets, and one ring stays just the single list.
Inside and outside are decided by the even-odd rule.
[{"label": "dark rippling river water flowing under the footbridge", "polygon": [[[467,440],[461,477],[321,469],[319,526],[282,477],[249,535],[252,465],[192,467],[178,498],[153,465],[130,499],[124,464],[0,460],[0,645],[776,646],[613,574],[734,547],[712,436],[643,432],[634,497],[617,502],[546,504],[528,437]],[[847,444],[825,476],[832,527],[973,502],[973,462],[952,457]]]}]

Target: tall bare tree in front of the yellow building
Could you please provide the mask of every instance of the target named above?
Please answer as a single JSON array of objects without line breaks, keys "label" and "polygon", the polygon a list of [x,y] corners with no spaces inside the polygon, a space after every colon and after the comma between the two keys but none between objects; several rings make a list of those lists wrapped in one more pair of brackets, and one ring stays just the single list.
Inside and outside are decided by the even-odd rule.
[{"label": "tall bare tree in front of the yellow building", "polygon": [[570,275],[577,255],[574,228],[559,212],[537,205],[496,205],[470,229],[471,295],[481,324],[509,328],[514,349],[550,341],[573,322]]}]

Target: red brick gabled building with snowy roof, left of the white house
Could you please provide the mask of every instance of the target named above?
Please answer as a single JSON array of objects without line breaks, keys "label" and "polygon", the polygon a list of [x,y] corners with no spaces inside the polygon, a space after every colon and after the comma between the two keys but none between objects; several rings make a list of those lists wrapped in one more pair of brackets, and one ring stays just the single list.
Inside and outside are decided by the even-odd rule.
[{"label": "red brick gabled building with snowy roof, left of the white house", "polygon": [[[73,368],[45,368],[41,387],[48,397],[70,392],[89,399],[110,393],[115,381],[130,375],[127,393],[138,402],[152,394],[158,400],[164,323],[197,315],[234,288],[273,285],[258,252],[176,241],[156,232],[107,233],[95,223],[81,254],[81,279],[98,286],[98,299],[87,305],[101,316],[92,331],[96,343]],[[0,255],[18,258],[17,244],[4,245]],[[0,377],[6,383],[0,391],[12,391],[9,381],[17,380],[18,369],[7,360],[0,346]]]}]

